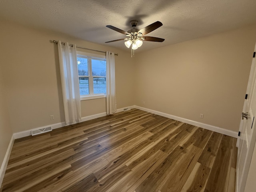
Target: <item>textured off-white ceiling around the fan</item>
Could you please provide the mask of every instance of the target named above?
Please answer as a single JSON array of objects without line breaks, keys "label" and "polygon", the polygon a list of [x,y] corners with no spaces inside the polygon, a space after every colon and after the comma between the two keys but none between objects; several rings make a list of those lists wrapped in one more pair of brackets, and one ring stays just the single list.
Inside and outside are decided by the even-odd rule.
[{"label": "textured off-white ceiling around the fan", "polygon": [[[97,44],[126,38],[106,25],[128,31],[130,20],[138,29],[162,22],[147,36],[165,41],[144,42],[138,52],[256,24],[256,0],[0,0],[0,19]],[[130,51],[124,41],[107,45]]]}]

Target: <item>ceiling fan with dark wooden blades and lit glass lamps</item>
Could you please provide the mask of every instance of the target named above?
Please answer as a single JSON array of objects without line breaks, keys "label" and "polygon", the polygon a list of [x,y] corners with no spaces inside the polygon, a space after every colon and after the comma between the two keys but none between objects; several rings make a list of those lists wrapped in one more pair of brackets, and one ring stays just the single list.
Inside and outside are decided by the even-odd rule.
[{"label": "ceiling fan with dark wooden blades and lit glass lamps", "polygon": [[107,28],[110,28],[112,30],[115,30],[117,32],[125,34],[127,36],[127,38],[112,40],[112,41],[108,41],[105,43],[127,40],[124,43],[126,45],[126,47],[130,48],[130,46],[132,46],[132,50],[135,50],[135,49],[138,49],[138,47],[140,47],[142,45],[142,40],[153,41],[153,42],[163,42],[164,41],[164,39],[162,39],[162,38],[144,36],[152,31],[156,30],[160,26],[162,26],[163,24],[160,21],[156,21],[156,22],[144,27],[141,30],[135,28],[138,25],[138,20],[131,20],[130,24],[133,28],[131,30],[128,30],[127,32],[124,30],[118,29],[112,25],[107,25],[106,26]]}]

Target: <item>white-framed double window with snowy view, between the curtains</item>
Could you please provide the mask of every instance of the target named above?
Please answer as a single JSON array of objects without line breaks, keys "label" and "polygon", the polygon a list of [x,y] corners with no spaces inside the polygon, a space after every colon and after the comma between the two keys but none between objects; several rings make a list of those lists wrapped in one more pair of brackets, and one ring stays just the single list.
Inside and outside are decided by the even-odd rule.
[{"label": "white-framed double window with snowy view, between the curtains", "polygon": [[77,52],[81,100],[106,97],[106,56]]}]

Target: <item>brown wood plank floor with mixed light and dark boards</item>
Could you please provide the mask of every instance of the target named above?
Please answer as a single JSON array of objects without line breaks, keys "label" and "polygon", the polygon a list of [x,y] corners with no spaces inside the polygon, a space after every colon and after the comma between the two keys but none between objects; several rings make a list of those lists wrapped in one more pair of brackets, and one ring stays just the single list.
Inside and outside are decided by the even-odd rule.
[{"label": "brown wood plank floor with mixed light and dark boards", "polygon": [[236,153],[236,138],[132,109],[15,140],[1,190],[234,192]]}]

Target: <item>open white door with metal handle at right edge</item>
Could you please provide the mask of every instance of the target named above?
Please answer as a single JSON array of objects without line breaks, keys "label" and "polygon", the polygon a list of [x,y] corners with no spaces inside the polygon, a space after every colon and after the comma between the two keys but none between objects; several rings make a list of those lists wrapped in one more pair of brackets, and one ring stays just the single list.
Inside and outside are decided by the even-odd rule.
[{"label": "open white door with metal handle at right edge", "polygon": [[[256,52],[256,46],[254,48]],[[243,118],[240,122],[240,136],[238,136],[237,165],[236,165],[236,192],[244,192],[254,144],[256,141],[256,128],[254,116],[256,112],[256,58],[252,59],[252,66],[244,100]],[[255,120],[256,121],[256,120]]]}]

